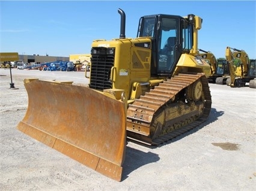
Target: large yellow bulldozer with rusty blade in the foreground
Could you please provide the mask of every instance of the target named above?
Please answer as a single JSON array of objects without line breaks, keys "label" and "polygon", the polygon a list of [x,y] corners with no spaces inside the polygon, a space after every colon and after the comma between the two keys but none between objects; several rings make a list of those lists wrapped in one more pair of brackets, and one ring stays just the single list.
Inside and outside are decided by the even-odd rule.
[{"label": "large yellow bulldozer with rusty blade in the foreground", "polygon": [[212,98],[210,66],[198,55],[200,17],[143,16],[137,37],[126,38],[118,13],[120,38],[92,43],[88,86],[24,80],[28,109],[17,128],[121,181],[126,140],[171,140],[207,119]]}]

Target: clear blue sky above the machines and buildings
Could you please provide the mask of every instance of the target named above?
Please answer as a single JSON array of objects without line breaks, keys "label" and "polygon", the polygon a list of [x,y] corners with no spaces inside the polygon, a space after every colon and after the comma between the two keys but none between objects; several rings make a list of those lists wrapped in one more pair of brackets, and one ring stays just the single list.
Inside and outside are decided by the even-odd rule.
[{"label": "clear blue sky above the machines and buildings", "polygon": [[88,54],[93,40],[136,38],[141,16],[195,14],[203,19],[198,48],[225,57],[227,46],[256,59],[255,1],[1,1],[0,52],[67,56]]}]

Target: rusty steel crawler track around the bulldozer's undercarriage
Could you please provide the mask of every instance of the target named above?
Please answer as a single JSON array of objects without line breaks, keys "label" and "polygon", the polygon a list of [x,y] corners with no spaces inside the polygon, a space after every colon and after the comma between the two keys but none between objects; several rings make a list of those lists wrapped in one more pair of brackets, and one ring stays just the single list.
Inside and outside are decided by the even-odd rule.
[{"label": "rusty steel crawler track around the bulldozer's undercarriage", "polygon": [[[178,93],[194,83],[197,80],[201,80],[203,95],[204,95],[204,109],[203,114],[194,120],[194,122],[188,125],[181,126],[179,129],[168,132],[165,135],[152,139],[150,137],[150,125],[153,121],[153,117],[159,108],[165,105],[167,102],[174,100]],[[136,99],[133,104],[129,105],[127,110],[127,138],[135,141],[139,141],[149,145],[159,145],[175,137],[178,137],[184,132],[193,129],[206,121],[210,114],[212,107],[212,98],[210,95],[209,84],[206,76],[203,73],[188,73],[178,74],[171,79],[160,83],[159,86],[155,86],[150,92],[145,93],[139,99]],[[184,116],[178,118],[181,123],[184,122]]]}]

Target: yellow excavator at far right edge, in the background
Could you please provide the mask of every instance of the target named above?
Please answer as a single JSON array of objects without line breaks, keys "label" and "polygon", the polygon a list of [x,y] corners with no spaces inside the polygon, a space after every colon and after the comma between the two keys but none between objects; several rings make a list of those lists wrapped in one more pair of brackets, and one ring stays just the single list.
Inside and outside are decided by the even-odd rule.
[{"label": "yellow excavator at far right edge, in the background", "polygon": [[228,86],[243,87],[246,83],[254,80],[255,62],[250,62],[249,56],[244,50],[227,47],[225,56],[230,68],[230,78],[227,81]]}]

